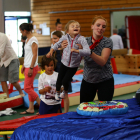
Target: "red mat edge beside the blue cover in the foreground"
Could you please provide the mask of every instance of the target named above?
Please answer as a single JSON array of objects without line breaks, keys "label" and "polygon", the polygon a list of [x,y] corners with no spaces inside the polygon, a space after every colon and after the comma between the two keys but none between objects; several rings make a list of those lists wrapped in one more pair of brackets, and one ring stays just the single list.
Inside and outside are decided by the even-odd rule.
[{"label": "red mat edge beside the blue cover in the foreground", "polygon": [[2,122],[0,122],[0,131],[15,130],[16,128],[27,123],[30,120],[40,119],[40,118],[49,118],[49,117],[53,117],[53,116],[57,116],[57,115],[61,115],[61,114],[63,114],[63,113],[26,116],[26,117],[22,117],[22,118],[10,120],[10,121],[2,121]]}]

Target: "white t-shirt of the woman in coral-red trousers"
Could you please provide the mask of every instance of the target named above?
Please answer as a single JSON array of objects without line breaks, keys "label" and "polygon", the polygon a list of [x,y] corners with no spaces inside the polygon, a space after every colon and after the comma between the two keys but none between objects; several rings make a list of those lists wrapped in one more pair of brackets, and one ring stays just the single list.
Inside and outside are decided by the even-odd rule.
[{"label": "white t-shirt of the woman in coral-red trousers", "polygon": [[[32,62],[32,58],[33,58],[33,52],[32,52],[33,43],[36,43],[38,46],[38,40],[35,36],[30,38],[30,40],[27,43],[25,42],[25,46],[24,46],[24,49],[25,49],[24,67],[25,68],[29,68],[31,66],[31,62]],[[38,50],[37,50],[37,54],[38,54]],[[36,67],[37,65],[38,65],[38,55],[37,55],[37,59],[36,59],[34,67]]]}]

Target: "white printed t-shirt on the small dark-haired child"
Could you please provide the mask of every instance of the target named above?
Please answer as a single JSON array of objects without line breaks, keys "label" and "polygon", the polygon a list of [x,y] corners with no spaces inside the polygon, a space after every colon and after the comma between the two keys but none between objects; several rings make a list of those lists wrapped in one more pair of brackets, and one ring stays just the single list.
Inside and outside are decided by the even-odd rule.
[{"label": "white printed t-shirt on the small dark-haired child", "polygon": [[38,80],[38,90],[45,88],[46,86],[51,86],[51,93],[47,92],[44,95],[40,96],[40,99],[47,105],[56,105],[61,104],[61,101],[55,100],[56,93],[56,81],[57,81],[57,72],[53,72],[52,75],[47,75],[45,72],[39,76]]}]

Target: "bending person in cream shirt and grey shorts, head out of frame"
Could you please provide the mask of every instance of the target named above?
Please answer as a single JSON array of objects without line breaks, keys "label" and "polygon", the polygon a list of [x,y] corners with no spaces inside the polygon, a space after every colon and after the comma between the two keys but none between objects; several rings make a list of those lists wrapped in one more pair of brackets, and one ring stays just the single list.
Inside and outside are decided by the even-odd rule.
[{"label": "bending person in cream shirt and grey shorts, head out of frame", "polygon": [[18,83],[19,81],[19,60],[14,52],[8,37],[0,32],[0,82],[3,92],[9,98],[7,81],[11,83],[23,97],[25,96]]}]

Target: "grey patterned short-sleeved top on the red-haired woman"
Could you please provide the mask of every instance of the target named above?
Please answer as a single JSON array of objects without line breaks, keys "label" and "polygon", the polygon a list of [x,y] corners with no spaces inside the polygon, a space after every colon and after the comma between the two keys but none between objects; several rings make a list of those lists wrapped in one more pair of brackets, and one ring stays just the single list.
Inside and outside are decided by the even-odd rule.
[{"label": "grey patterned short-sleeved top on the red-haired woman", "polygon": [[[93,44],[92,37],[88,37],[86,39],[87,39],[88,45],[91,46]],[[110,48],[112,52],[113,43],[110,38],[103,37],[100,43],[92,51],[95,54],[101,56],[102,50],[104,48]],[[111,54],[104,66],[98,65],[90,56],[84,57],[83,78],[86,82],[99,83],[113,77],[112,67],[110,65]]]}]

